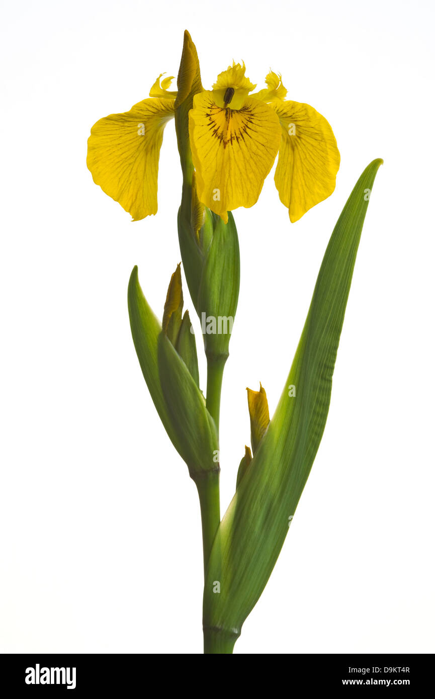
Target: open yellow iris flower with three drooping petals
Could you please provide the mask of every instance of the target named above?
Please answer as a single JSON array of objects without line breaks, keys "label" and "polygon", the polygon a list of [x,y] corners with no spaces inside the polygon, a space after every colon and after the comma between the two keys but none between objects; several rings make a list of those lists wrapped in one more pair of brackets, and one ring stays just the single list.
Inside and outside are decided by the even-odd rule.
[{"label": "open yellow iris flower with three drooping petals", "polygon": [[[175,114],[173,78],[159,75],[150,99],[129,112],[100,119],[91,129],[87,166],[94,182],[135,221],[157,212],[157,171],[166,123]],[[212,90],[194,95],[189,136],[197,197],[227,222],[227,211],[253,206],[278,154],[275,184],[295,222],[334,192],[340,154],[325,117],[287,101],[281,76],[266,88],[234,64]]]}]

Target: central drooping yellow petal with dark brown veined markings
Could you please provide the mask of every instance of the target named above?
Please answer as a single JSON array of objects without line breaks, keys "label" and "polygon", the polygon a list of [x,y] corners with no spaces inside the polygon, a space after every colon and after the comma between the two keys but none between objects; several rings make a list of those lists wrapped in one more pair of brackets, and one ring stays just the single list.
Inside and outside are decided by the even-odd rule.
[{"label": "central drooping yellow petal with dark brown veined markings", "polygon": [[250,97],[238,110],[218,107],[205,91],[194,97],[189,131],[199,200],[227,222],[227,211],[253,206],[262,191],[280,145],[278,116]]}]

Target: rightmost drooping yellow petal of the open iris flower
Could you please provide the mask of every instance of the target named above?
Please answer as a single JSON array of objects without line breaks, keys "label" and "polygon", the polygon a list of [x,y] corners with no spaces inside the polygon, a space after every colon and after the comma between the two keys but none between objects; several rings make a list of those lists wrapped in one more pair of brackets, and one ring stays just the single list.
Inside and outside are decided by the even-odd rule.
[{"label": "rightmost drooping yellow petal of the open iris flower", "polygon": [[282,133],[275,184],[294,223],[334,192],[340,153],[327,120],[309,104],[273,106]]}]

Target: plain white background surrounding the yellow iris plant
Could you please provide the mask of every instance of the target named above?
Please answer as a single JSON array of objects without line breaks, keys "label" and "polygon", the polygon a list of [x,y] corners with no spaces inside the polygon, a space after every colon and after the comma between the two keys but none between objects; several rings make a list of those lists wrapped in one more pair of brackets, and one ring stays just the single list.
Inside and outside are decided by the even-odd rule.
[{"label": "plain white background surrounding the yellow iris plant", "polygon": [[[201,653],[199,505],[134,352],[138,264],[161,315],[180,261],[173,122],[159,212],[131,223],[93,184],[100,117],[176,75],[189,29],[203,84],[236,59],[324,114],[336,191],[290,224],[269,175],[235,212],[241,294],[222,394],[222,514],[271,412],[327,240],[376,157],[325,435],[236,653],[434,651],[433,3],[8,3],[1,52],[1,649]],[[192,303],[185,293],[187,308]],[[195,316],[195,327],[199,322]],[[197,333],[200,342],[201,336]],[[201,347],[200,347],[201,348]],[[205,364],[201,352],[201,382]]]}]

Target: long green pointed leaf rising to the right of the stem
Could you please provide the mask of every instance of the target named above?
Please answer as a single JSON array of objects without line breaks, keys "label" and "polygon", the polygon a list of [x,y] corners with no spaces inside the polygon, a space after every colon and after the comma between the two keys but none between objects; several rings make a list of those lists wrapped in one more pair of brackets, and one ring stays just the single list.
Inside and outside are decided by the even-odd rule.
[{"label": "long green pointed leaf rising to the right of the stem", "polygon": [[231,653],[271,575],[318,451],[362,224],[381,163],[364,170],[334,228],[275,415],[213,544],[204,628],[220,652]]}]

